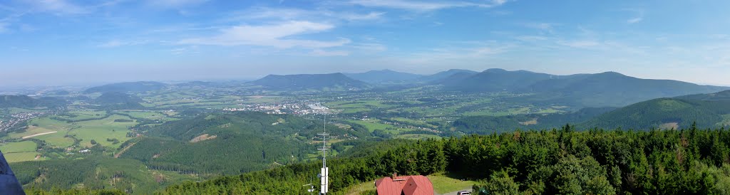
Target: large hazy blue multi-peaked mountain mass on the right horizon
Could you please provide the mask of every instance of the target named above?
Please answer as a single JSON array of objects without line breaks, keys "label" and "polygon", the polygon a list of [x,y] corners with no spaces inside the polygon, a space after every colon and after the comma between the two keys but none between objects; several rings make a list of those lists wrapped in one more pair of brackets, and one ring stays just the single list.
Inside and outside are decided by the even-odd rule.
[{"label": "large hazy blue multi-peaked mountain mass on the right horizon", "polygon": [[515,100],[577,107],[620,107],[654,98],[730,89],[683,81],[639,79],[615,72],[557,76],[502,69],[452,76],[437,84],[444,85],[445,89],[461,92],[530,93],[535,95]]}]

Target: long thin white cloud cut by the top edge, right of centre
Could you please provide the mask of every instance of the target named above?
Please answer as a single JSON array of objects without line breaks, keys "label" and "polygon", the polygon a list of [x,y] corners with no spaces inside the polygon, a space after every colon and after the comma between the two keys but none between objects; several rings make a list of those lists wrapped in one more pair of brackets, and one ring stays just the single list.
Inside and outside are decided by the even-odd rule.
[{"label": "long thin white cloud cut by the top edge, right of centre", "polygon": [[364,7],[384,7],[427,12],[455,7],[497,7],[506,2],[507,0],[479,1],[477,3],[469,1],[352,0],[348,3]]}]

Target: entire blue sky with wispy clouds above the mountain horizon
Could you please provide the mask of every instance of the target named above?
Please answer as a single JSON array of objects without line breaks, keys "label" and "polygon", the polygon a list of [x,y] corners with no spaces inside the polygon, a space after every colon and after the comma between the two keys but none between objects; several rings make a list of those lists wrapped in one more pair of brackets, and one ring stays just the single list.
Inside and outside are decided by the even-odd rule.
[{"label": "entire blue sky with wispy clouds above the mountain horizon", "polygon": [[487,68],[730,85],[730,1],[0,1],[0,87]]}]

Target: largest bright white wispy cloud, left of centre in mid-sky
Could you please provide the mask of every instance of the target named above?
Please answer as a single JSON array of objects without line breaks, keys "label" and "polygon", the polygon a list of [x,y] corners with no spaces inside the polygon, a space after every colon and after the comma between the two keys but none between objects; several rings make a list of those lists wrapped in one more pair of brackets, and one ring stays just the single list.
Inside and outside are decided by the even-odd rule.
[{"label": "largest bright white wispy cloud, left of centre in mid-sky", "polygon": [[318,33],[332,28],[334,28],[334,25],[309,21],[288,21],[272,25],[237,25],[220,30],[220,33],[215,36],[183,39],[178,43],[220,46],[254,45],[284,49],[291,47],[338,47],[350,43],[349,39],[335,41],[288,39],[289,36]]}]

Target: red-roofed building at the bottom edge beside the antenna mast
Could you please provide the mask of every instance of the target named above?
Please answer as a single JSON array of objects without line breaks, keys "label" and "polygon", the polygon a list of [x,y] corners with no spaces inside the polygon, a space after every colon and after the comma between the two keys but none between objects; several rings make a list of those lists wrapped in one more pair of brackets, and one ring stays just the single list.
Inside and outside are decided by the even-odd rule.
[{"label": "red-roofed building at the bottom edge beside the antenna mast", "polygon": [[378,195],[434,194],[434,185],[423,175],[398,176],[375,180]]}]

